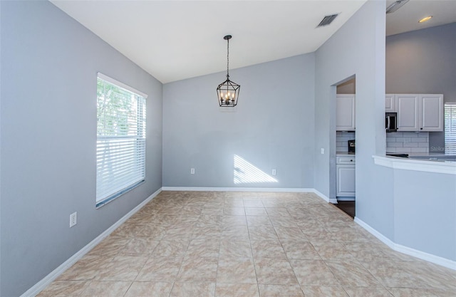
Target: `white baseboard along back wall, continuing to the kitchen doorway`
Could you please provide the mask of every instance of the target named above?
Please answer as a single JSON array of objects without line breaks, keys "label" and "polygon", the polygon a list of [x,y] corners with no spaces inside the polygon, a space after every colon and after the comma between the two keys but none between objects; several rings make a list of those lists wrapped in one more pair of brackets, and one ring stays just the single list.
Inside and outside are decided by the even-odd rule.
[{"label": "white baseboard along back wall, continuing to the kitchen doorway", "polygon": [[213,192],[293,192],[314,193],[318,197],[337,204],[337,199],[329,199],[326,195],[313,188],[242,188],[242,187],[162,187],[163,191],[213,191]]}]

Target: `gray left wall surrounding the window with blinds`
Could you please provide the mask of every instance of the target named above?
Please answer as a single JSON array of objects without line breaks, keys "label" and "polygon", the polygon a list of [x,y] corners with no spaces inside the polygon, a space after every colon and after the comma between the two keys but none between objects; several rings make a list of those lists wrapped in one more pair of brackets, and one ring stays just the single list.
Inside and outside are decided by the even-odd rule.
[{"label": "gray left wall surrounding the window with blinds", "polygon": [[[48,1],[0,5],[0,296],[12,297],[160,189],[162,85]],[[149,98],[146,182],[95,209],[98,71]]]}]

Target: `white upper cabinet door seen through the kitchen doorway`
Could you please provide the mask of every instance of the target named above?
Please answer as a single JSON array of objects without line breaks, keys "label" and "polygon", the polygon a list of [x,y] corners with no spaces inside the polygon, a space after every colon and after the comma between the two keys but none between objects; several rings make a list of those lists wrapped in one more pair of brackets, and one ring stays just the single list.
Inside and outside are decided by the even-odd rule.
[{"label": "white upper cabinet door seen through the kitchen doorway", "polygon": [[355,130],[355,95],[336,96],[336,131]]}]

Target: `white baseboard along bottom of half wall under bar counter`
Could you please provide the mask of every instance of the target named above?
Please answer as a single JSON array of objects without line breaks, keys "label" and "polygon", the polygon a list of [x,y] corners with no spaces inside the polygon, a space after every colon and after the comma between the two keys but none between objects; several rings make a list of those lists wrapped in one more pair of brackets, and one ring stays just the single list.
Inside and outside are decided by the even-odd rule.
[{"label": "white baseboard along bottom of half wall under bar counter", "polygon": [[440,266],[447,267],[449,269],[456,270],[456,261],[445,259],[440,256],[435,256],[433,254],[428,254],[424,251],[419,251],[418,249],[412,249],[408,246],[403,246],[402,244],[396,244],[394,241],[388,239],[388,237],[384,236],[379,231],[373,229],[371,226],[363,222],[361,219],[358,219],[358,217],[355,217],[355,222],[395,251],[399,251],[400,253],[414,256],[418,259],[422,259]]}]

